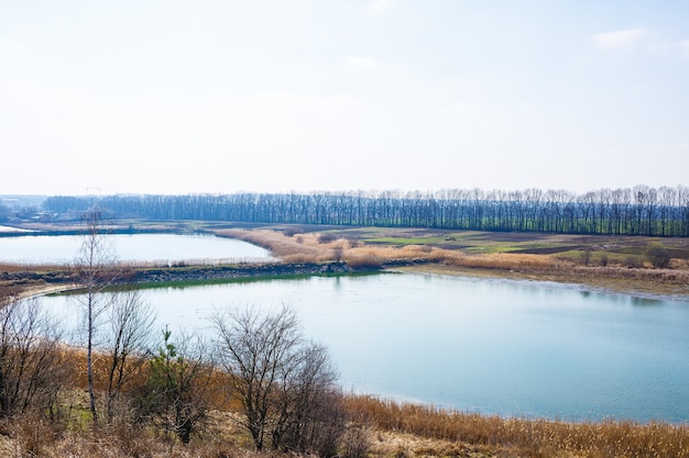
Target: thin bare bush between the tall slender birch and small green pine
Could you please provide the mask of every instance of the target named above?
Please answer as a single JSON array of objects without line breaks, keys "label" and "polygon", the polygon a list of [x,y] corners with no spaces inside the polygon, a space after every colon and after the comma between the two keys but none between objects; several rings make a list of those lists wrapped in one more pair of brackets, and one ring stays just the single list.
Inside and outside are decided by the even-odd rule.
[{"label": "thin bare bush between the tall slender birch and small green pine", "polygon": [[114,406],[123,386],[145,362],[142,358],[151,344],[154,314],[142,299],[139,289],[123,289],[113,293],[107,311],[109,335],[107,355],[106,415],[113,420]]}]

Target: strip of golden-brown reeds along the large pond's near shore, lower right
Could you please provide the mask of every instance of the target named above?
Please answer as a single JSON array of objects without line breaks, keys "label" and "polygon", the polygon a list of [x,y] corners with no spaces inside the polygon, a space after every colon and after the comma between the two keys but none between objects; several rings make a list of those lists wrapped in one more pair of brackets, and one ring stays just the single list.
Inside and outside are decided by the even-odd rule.
[{"label": "strip of golden-brown reeds along the large pond's near shore, lower right", "polygon": [[[374,428],[450,443],[489,446],[493,450],[512,450],[517,456],[689,457],[687,424],[504,418],[363,395],[350,396],[348,405],[358,417]],[[425,450],[425,454],[439,455],[434,450]]]}]

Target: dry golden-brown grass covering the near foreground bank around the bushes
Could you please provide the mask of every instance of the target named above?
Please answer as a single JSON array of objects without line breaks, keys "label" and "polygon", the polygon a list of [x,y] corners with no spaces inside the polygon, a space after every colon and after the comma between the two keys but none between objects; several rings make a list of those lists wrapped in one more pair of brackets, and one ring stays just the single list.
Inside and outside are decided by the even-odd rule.
[{"label": "dry golden-brown grass covering the near foreground bank around the bushes", "polygon": [[[67,380],[57,421],[25,415],[0,421],[0,456],[4,457],[248,457],[289,455],[247,451],[250,442],[236,427],[234,405],[212,399],[211,422],[188,445],[144,426],[116,422],[89,427],[85,394],[85,353],[64,347],[62,365]],[[96,358],[102,380],[105,359]],[[133,379],[145,377],[146,365]],[[217,372],[212,383],[228,383]],[[136,384],[136,380],[132,380]],[[96,387],[102,390],[102,384]],[[220,391],[220,390],[218,390]],[[211,390],[212,392],[212,390]],[[430,405],[396,403],[364,395],[348,395],[347,409],[357,424],[372,432],[369,457],[689,457],[689,425],[634,422],[567,423],[504,418]],[[291,456],[292,457],[292,456]],[[294,458],[294,457],[292,457]]]}]

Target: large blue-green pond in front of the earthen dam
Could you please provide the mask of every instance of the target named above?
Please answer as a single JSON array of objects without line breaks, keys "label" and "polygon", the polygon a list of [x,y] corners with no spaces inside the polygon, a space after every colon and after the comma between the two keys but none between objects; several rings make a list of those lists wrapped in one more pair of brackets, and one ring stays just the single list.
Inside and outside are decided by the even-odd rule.
[{"label": "large blue-green pond in front of the earthen dam", "polygon": [[[145,298],[173,336],[209,332],[215,310],[289,304],[354,392],[505,416],[689,420],[686,302],[413,273],[161,288]],[[70,306],[66,297],[44,300]]]}]

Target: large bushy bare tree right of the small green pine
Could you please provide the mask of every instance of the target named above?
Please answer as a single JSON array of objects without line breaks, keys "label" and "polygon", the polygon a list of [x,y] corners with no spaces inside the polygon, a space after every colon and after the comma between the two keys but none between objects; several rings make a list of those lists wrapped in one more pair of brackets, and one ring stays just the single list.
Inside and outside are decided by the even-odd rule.
[{"label": "large bushy bare tree right of the small green pine", "polygon": [[344,424],[337,376],[325,347],[302,338],[295,312],[231,309],[216,315],[214,325],[229,394],[241,402],[240,424],[255,448],[333,450]]}]

